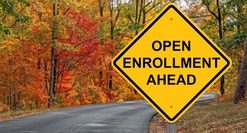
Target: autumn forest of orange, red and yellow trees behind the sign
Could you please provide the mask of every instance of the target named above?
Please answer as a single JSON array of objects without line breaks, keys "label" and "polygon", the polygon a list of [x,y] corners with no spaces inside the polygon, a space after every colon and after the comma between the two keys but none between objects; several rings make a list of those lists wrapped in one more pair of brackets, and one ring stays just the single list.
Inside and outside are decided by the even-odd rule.
[{"label": "autumn forest of orange, red and yellow trees behind the sign", "polygon": [[0,113],[142,99],[111,61],[168,3],[232,59],[209,91],[244,100],[246,0],[1,0]]}]

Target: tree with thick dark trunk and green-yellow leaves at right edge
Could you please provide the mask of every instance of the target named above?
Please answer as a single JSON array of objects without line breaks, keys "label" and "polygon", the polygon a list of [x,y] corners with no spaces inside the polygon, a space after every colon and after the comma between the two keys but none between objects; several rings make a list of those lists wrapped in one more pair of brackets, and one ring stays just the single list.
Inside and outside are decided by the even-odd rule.
[{"label": "tree with thick dark trunk and green-yellow leaves at right edge", "polygon": [[[228,22],[228,27],[233,33],[229,39],[229,44],[231,48],[244,49],[244,55],[242,57],[240,69],[238,71],[238,81],[234,93],[233,103],[237,104],[240,101],[245,100],[246,95],[246,55],[247,55],[247,16],[245,15],[247,9],[245,8],[247,2],[243,0],[233,1],[229,0],[227,2],[227,7],[230,8],[230,20]],[[245,46],[243,46],[245,40]]]}]

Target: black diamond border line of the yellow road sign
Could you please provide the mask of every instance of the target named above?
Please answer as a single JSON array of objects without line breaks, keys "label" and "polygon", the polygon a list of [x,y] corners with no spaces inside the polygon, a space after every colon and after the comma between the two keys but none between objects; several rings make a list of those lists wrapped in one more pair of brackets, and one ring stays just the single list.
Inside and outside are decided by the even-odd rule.
[{"label": "black diamond border line of the yellow road sign", "polygon": [[[227,64],[173,117],[169,117],[118,65],[117,61],[126,53],[170,8],[173,8]],[[174,121],[229,65],[230,61],[205,37],[174,5],[169,5],[140,35],[113,61],[113,65],[170,121]]]}]

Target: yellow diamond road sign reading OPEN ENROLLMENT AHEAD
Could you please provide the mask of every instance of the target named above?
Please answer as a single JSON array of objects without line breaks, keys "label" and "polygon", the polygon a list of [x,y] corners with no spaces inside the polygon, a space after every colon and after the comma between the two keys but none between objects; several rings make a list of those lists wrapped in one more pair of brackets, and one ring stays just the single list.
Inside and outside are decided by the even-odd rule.
[{"label": "yellow diamond road sign reading OPEN ENROLLMENT AHEAD", "polygon": [[119,52],[113,66],[174,123],[230,68],[231,60],[169,4]]}]

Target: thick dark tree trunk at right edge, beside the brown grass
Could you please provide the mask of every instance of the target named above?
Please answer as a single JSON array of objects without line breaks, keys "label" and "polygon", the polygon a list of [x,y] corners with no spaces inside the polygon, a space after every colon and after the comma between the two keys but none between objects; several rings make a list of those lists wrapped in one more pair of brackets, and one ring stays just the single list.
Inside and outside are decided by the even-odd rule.
[{"label": "thick dark tree trunk at right edge, beside the brown grass", "polygon": [[234,104],[238,104],[240,101],[245,100],[246,88],[247,88],[247,38],[244,48],[244,57],[242,58],[241,68],[239,71],[238,83],[233,98]]}]

